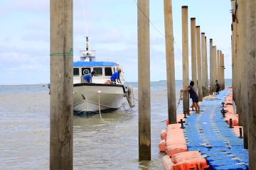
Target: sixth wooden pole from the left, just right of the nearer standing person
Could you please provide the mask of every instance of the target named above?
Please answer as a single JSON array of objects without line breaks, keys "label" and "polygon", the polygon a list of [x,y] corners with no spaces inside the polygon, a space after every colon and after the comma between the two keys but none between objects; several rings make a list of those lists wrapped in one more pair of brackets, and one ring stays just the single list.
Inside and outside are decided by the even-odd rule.
[{"label": "sixth wooden pole from the left, just right of the nearer standing person", "polygon": [[203,101],[200,26],[196,26],[196,60],[198,73],[198,99],[199,101]]}]

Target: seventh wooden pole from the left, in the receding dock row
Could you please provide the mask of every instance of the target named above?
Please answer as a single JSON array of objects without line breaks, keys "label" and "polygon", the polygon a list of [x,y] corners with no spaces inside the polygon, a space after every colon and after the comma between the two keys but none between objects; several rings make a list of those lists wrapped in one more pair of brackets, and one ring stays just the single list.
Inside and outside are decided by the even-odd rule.
[{"label": "seventh wooden pole from the left, in the receding dock row", "polygon": [[202,53],[202,90],[203,90],[203,97],[206,96],[206,74],[208,74],[206,69],[206,40],[205,40],[205,33],[201,33],[201,53]]}]

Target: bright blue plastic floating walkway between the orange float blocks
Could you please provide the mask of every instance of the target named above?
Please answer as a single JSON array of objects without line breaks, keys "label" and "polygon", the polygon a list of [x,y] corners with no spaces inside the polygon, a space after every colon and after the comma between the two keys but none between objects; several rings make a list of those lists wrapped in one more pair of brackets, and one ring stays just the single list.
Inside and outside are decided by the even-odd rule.
[{"label": "bright blue plastic floating walkway between the orange float blocks", "polygon": [[[230,90],[221,91],[204,100],[201,113],[193,113],[185,120],[183,134],[188,151],[200,151],[210,169],[249,169],[248,151],[243,149],[243,140],[235,135],[221,113],[221,103],[230,93]],[[167,129],[168,133],[171,131]]]}]

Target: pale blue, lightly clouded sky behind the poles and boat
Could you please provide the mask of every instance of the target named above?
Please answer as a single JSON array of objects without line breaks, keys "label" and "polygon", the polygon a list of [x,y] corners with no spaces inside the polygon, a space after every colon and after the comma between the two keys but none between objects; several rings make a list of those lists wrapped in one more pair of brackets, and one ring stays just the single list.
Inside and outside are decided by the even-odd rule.
[{"label": "pale blue, lightly clouded sky behind the poles and boat", "polygon": [[[164,1],[149,2],[150,76],[159,81],[166,79]],[[0,6],[0,84],[49,83],[50,1],[1,0]],[[232,78],[230,1],[173,0],[176,79],[182,79],[181,6],[188,6],[189,65],[190,18],[195,17],[208,45],[213,38],[225,54],[225,78]],[[137,0],[73,0],[73,31],[74,61],[89,35],[96,57],[121,64],[126,81],[138,80]]]}]

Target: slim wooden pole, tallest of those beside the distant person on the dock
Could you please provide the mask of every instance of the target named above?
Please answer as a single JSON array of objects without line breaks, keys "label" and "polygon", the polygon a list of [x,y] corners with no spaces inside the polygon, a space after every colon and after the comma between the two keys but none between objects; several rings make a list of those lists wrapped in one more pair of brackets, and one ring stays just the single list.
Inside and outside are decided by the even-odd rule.
[{"label": "slim wooden pole, tallest of those beside the distant person on the dock", "polygon": [[[215,55],[216,56],[216,55]],[[215,91],[215,78],[214,78],[214,56],[213,56],[213,39],[210,39],[210,94]]]}]

